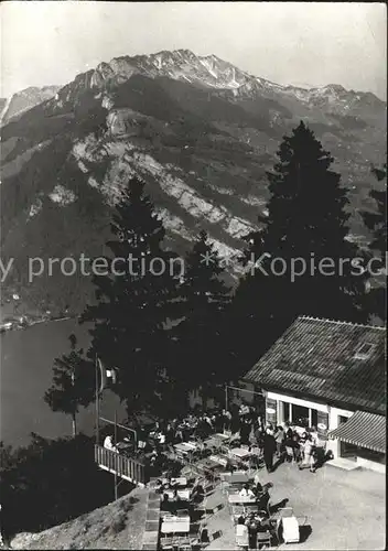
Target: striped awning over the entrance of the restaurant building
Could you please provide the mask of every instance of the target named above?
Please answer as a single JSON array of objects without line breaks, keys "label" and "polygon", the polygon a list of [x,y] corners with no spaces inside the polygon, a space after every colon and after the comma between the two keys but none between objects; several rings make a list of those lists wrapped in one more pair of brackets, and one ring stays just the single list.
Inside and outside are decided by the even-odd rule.
[{"label": "striped awning over the entrance of the restaurant building", "polygon": [[366,411],[356,411],[328,436],[348,444],[386,453],[386,418]]}]

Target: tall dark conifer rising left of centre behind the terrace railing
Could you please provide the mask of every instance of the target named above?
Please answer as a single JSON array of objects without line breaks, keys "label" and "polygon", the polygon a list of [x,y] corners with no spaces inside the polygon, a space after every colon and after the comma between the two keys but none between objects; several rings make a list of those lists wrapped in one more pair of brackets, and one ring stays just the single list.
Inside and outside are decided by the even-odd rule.
[{"label": "tall dark conifer rising left of centre behind the terrace railing", "polygon": [[114,391],[128,414],[158,408],[166,367],[165,324],[174,316],[182,268],[162,248],[163,224],[143,188],[143,182],[131,179],[117,205],[108,273],[95,277],[97,304],[83,315],[94,322],[89,354],[115,369]]}]

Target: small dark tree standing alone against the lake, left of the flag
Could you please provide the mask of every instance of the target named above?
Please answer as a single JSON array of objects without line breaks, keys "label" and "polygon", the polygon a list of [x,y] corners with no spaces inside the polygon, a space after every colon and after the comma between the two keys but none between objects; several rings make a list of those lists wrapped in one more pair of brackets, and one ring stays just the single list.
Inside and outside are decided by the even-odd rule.
[{"label": "small dark tree standing alone against the lake, left of the flag", "polygon": [[87,407],[95,398],[94,365],[84,356],[83,348],[76,349],[74,334],[68,337],[71,353],[54,360],[53,385],[44,395],[53,411],[72,417],[73,436],[77,433],[76,415],[79,407]]}]

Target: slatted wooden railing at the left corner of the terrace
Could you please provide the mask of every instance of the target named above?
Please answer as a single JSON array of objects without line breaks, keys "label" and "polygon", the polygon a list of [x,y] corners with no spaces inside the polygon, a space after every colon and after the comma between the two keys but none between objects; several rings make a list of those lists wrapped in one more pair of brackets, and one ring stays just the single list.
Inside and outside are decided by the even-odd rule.
[{"label": "slatted wooden railing at the left corner of the terrace", "polygon": [[96,444],[95,461],[100,468],[117,474],[117,476],[133,484],[144,485],[148,482],[146,466],[132,457],[127,457]]}]

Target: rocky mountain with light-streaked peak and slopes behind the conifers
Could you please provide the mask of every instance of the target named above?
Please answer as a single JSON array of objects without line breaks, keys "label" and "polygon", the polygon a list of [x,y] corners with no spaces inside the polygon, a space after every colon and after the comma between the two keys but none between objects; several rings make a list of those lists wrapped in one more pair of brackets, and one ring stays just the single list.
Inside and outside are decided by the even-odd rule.
[{"label": "rocky mountain with light-streaked peak and slopes behind the conifers", "polygon": [[[26,258],[106,253],[111,209],[140,175],[183,252],[202,228],[223,255],[266,213],[266,171],[284,133],[304,120],[349,188],[351,231],[373,207],[370,164],[386,153],[386,102],[337,84],[301,88],[250,75],[188,50],[100,63],[58,88],[2,100],[2,258],[14,258],[3,295],[36,310],[74,310],[90,279],[46,273],[28,281]],[[231,270],[233,272],[233,270]]]}]

